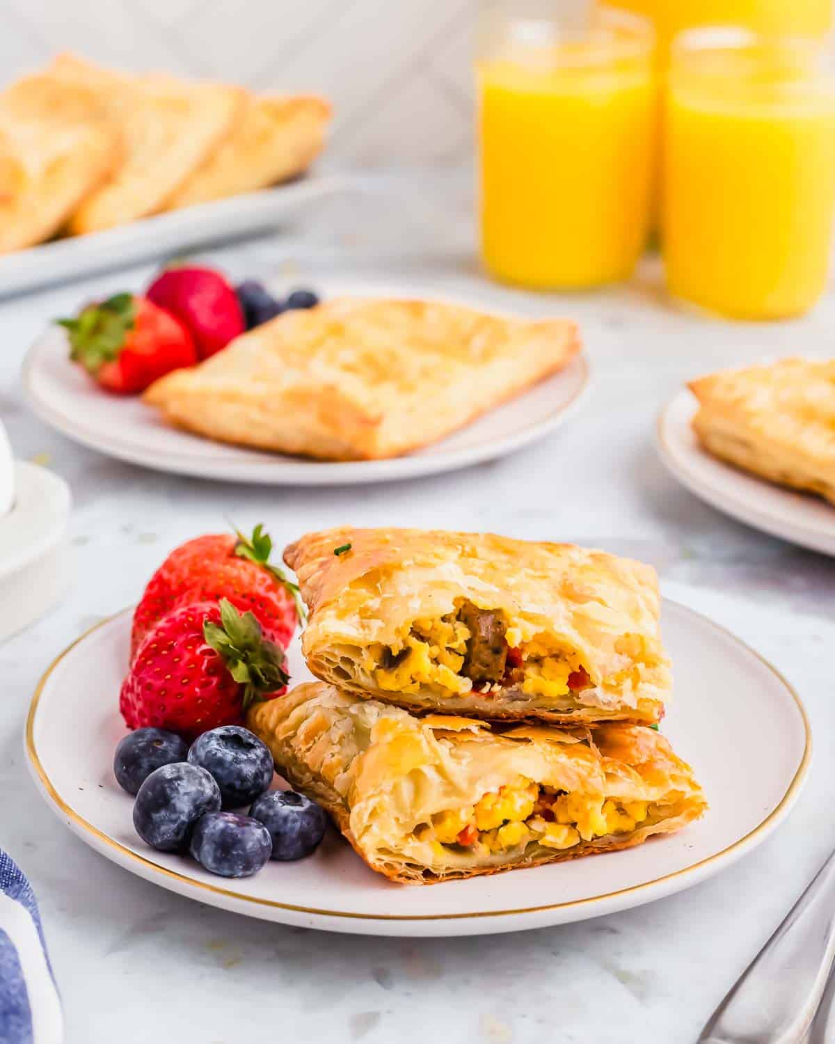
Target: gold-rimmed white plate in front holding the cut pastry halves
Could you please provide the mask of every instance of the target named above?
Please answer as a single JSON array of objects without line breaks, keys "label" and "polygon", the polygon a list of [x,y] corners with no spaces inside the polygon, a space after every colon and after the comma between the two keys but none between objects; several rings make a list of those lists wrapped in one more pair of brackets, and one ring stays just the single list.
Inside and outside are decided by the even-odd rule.
[{"label": "gold-rimmed white plate in front holding the cut pastry halves", "polygon": [[[88,632],[49,668],[29,710],[26,754],[45,800],[82,840],[202,903],[282,924],[381,935],[486,934],[579,921],[668,896],[734,862],[785,818],[809,767],[803,706],[768,663],[676,602],[665,601],[663,623],[676,678],[664,732],[693,764],[711,809],[679,834],[594,859],[413,887],[368,870],[335,832],[310,858],[270,862],[240,881],[154,852],[134,832],[132,799],[112,770],[125,733],[117,697],[129,611]],[[297,640],[290,670],[295,681],[309,677]]]}]

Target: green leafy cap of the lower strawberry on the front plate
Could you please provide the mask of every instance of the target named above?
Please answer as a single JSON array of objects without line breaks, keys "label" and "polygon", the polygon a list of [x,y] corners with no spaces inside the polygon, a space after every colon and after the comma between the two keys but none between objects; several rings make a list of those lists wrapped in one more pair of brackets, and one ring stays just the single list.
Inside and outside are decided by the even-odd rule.
[{"label": "green leafy cap of the lower strawberry on the front plate", "polygon": [[290,681],[284,669],[284,650],[264,638],[253,613],[239,613],[226,598],[221,598],[219,604],[220,625],[204,621],[204,637],[220,655],[233,679],[244,687],[242,702],[246,710]]}]

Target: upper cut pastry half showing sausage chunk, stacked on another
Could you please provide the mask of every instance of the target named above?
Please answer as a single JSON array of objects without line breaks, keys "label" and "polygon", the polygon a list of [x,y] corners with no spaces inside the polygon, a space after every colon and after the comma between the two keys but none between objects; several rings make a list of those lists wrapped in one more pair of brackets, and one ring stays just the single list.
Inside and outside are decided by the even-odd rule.
[{"label": "upper cut pastry half showing sausage chunk, stacked on another", "polygon": [[492,533],[351,527],[308,533],[284,561],[310,610],[308,666],[348,692],[484,718],[664,713],[650,566]]}]

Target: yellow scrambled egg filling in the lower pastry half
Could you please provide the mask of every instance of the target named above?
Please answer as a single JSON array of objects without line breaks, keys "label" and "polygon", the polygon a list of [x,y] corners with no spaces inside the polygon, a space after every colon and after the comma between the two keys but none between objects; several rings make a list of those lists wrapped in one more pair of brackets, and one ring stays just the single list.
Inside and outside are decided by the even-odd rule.
[{"label": "yellow scrambled egg filling in the lower pastry half", "polygon": [[647,818],[645,801],[612,801],[601,794],[566,793],[541,788],[520,776],[477,804],[438,812],[419,828],[421,840],[440,848],[480,846],[490,853],[535,841],[544,848],[568,849],[581,840],[629,833]]}]

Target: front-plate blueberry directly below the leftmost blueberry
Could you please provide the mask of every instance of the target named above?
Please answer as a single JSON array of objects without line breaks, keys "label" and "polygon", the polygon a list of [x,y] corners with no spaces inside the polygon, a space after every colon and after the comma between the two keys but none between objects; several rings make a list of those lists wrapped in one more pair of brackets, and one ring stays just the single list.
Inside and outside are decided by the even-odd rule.
[{"label": "front-plate blueberry directly below the leftmost blueberry", "polygon": [[194,824],[220,808],[220,789],[205,768],[181,761],[148,776],[134,802],[134,826],[143,841],[161,852],[188,847]]}]

